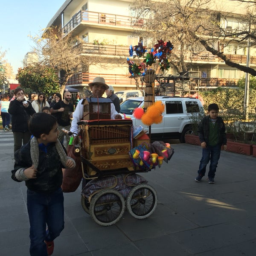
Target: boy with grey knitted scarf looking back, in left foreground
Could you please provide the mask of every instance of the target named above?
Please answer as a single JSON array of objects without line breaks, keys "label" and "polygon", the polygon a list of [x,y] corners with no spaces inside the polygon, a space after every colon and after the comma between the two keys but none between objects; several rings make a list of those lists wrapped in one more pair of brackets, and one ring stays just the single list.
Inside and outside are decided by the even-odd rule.
[{"label": "boy with grey knitted scarf looking back, in left foreground", "polygon": [[30,255],[52,255],[53,240],[64,229],[62,168],[75,167],[59,142],[57,119],[35,113],[29,120],[34,137],[15,152],[12,179],[25,181],[30,223]]}]

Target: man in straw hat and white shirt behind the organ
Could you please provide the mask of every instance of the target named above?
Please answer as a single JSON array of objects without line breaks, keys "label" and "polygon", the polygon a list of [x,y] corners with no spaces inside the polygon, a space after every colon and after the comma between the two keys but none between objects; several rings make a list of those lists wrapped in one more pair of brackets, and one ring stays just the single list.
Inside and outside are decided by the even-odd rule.
[{"label": "man in straw hat and white shirt behind the organ", "polygon": [[[96,77],[93,79],[91,83],[88,84],[90,90],[92,91],[92,97],[102,98],[102,95],[105,93],[105,90],[108,90],[109,86],[105,83],[105,79],[103,77]],[[77,123],[83,117],[84,114],[84,105],[82,104],[83,99],[81,99],[76,106],[76,110],[73,113],[73,120],[71,122],[70,131],[78,134],[78,125]],[[122,119],[122,116],[116,111],[115,105],[111,103],[111,119]]]}]

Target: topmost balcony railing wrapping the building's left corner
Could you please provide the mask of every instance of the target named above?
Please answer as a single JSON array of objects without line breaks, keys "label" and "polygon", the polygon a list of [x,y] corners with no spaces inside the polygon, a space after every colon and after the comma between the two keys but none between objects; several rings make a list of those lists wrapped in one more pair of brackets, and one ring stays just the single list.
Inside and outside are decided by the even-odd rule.
[{"label": "topmost balcony railing wrapping the building's left corner", "polygon": [[145,22],[145,19],[137,19],[136,17],[131,16],[114,15],[102,12],[79,11],[63,27],[63,32],[66,35],[80,23],[94,23],[109,26],[140,28],[145,24]]}]

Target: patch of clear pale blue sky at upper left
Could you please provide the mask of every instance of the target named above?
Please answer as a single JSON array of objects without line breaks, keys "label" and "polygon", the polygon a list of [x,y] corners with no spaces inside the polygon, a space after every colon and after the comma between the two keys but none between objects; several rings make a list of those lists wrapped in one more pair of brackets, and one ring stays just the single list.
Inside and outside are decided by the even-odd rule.
[{"label": "patch of clear pale blue sky at upper left", "polygon": [[0,3],[0,51],[16,74],[33,42],[28,35],[38,35],[65,0],[4,0]]}]

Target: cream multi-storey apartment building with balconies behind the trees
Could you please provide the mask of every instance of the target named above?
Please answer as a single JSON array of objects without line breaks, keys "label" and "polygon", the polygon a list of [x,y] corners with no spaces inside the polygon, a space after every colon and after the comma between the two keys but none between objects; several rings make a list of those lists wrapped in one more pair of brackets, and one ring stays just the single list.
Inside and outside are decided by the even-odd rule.
[{"label": "cream multi-storey apartment building with balconies behind the trees", "polygon": [[[148,40],[140,37],[140,30],[146,20],[134,17],[129,9],[130,4],[130,0],[66,0],[52,17],[47,27],[61,26],[64,34],[73,33],[77,36],[76,45],[82,47],[83,55],[100,56],[98,64],[81,70],[68,81],[68,85],[82,88],[95,76],[102,76],[116,91],[136,87],[135,80],[129,78],[126,63],[128,48],[141,41],[143,45],[147,45]],[[226,19],[219,20],[225,29],[237,28],[239,15],[247,11],[247,4],[237,1],[213,0],[211,8],[216,6],[227,13]],[[223,47],[224,54],[231,60],[246,65],[246,44],[233,43],[228,47],[218,47]],[[250,67],[253,68],[256,67],[255,53],[255,49],[250,49]],[[227,66],[220,58],[207,51],[196,55],[192,62],[190,70],[200,74],[202,87],[235,86],[236,81],[244,76],[242,71]],[[174,70],[171,73],[176,75]]]}]

